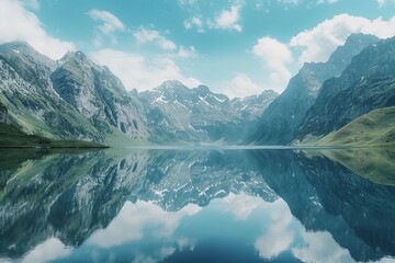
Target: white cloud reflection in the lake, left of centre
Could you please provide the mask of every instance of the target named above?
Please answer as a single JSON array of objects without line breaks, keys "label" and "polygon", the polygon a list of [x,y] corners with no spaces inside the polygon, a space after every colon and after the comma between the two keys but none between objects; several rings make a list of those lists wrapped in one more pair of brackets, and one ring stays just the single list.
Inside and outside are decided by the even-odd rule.
[{"label": "white cloud reflection in the lake, left of centre", "polygon": [[[135,204],[126,202],[111,224],[105,229],[94,232],[87,243],[109,249],[127,242],[156,240],[161,245],[157,247],[154,242],[149,254],[145,254],[144,250],[135,249],[131,249],[129,252],[137,252],[134,262],[161,262],[174,253],[176,249],[193,247],[192,241],[178,238],[174,232],[184,217],[200,210],[201,207],[198,205],[189,204],[177,213],[169,213],[151,202],[137,201]],[[151,235],[147,236],[147,230]]]}]

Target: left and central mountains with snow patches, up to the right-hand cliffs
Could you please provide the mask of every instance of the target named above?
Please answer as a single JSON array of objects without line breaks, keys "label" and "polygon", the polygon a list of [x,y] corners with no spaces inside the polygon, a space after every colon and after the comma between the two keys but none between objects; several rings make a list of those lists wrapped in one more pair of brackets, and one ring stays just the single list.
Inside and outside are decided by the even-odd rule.
[{"label": "left and central mountains with snow patches, up to the right-hand cliffs", "polygon": [[179,81],[135,94],[81,52],[54,61],[26,43],[0,46],[0,75],[8,123],[27,134],[110,145],[240,141],[278,95],[229,100]]}]

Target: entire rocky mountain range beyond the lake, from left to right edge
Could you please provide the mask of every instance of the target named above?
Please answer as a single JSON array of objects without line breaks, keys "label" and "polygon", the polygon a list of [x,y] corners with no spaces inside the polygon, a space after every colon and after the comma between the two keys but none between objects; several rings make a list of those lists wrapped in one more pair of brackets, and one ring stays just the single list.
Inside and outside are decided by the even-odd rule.
[{"label": "entire rocky mountain range beyond the lake, from left to right edge", "polygon": [[128,92],[81,52],[52,60],[14,42],[0,45],[0,122],[30,135],[111,146],[316,144],[395,105],[394,65],[395,38],[353,34],[328,61],[305,64],[282,94],[230,100],[177,80]]}]

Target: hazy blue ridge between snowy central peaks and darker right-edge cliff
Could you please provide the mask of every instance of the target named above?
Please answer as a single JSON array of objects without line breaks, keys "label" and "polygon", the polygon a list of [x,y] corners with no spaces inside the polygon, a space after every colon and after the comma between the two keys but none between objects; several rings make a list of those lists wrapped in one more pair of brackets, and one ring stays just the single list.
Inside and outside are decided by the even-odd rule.
[{"label": "hazy blue ridge between snowy central peaks and darker right-edge cliff", "polygon": [[364,47],[376,42],[371,35],[351,35],[327,62],[305,64],[290,80],[285,91],[263,112],[257,133],[248,142],[259,145],[289,144],[295,136],[307,110],[314,104],[323,82],[339,76]]}]

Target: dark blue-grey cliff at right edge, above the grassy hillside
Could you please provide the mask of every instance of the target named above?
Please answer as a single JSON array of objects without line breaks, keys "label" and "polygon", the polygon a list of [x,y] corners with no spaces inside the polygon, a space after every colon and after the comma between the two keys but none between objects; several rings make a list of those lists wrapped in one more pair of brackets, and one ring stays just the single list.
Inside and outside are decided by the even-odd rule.
[{"label": "dark blue-grey cliff at right edge, above the grassy hillside", "polygon": [[395,38],[370,45],[338,78],[325,81],[298,140],[321,137],[379,107],[395,105]]}]

